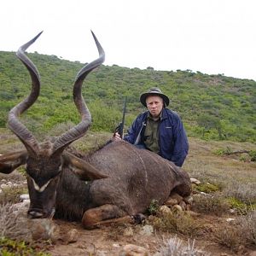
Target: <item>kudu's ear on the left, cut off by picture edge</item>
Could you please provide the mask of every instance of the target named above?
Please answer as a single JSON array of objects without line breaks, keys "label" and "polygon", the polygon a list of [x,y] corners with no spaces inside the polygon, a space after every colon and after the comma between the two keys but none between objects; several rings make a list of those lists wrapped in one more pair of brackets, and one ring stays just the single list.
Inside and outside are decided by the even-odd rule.
[{"label": "kudu's ear on the left, cut off by picture edge", "polygon": [[21,165],[26,164],[26,150],[0,155],[0,172],[9,174]]}]

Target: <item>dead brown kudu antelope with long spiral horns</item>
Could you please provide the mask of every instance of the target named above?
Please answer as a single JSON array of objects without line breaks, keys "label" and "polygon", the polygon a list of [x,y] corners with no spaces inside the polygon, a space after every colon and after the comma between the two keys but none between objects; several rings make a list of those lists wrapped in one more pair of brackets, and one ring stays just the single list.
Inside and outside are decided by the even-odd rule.
[{"label": "dead brown kudu antelope with long spiral horns", "polygon": [[36,102],[40,90],[39,73],[25,55],[38,34],[17,51],[32,79],[29,96],[9,111],[9,129],[19,137],[26,150],[0,156],[0,172],[10,173],[25,165],[30,196],[28,218],[56,217],[81,220],[92,228],[122,218],[140,216],[151,201],[162,204],[171,191],[191,192],[189,176],[172,162],[124,141],[107,143],[96,152],[77,157],[67,146],[83,137],[91,117],[81,93],[85,77],[99,67],[105,54],[92,33],[99,57],[85,65],[73,85],[73,100],[81,121],[60,137],[38,143],[20,123],[18,116]]}]

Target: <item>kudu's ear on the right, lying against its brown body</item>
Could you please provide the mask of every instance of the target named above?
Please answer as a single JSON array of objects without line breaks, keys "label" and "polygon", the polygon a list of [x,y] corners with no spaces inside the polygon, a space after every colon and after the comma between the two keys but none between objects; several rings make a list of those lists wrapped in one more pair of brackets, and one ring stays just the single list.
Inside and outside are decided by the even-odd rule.
[{"label": "kudu's ear on the right, lying against its brown body", "polygon": [[64,152],[61,154],[64,166],[67,165],[81,180],[89,181],[101,178],[107,178],[107,175],[99,172],[94,166],[88,162],[79,159],[73,154]]}]

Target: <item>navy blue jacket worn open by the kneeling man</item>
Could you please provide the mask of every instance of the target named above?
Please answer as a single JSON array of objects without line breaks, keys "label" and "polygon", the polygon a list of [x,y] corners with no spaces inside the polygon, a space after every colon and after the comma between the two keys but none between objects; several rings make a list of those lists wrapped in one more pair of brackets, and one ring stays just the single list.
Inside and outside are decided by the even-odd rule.
[{"label": "navy blue jacket worn open by the kneeling man", "polygon": [[[134,120],[124,140],[135,145],[143,145],[148,111],[141,113]],[[189,143],[182,120],[178,114],[163,108],[159,126],[160,156],[182,166],[189,152]]]}]

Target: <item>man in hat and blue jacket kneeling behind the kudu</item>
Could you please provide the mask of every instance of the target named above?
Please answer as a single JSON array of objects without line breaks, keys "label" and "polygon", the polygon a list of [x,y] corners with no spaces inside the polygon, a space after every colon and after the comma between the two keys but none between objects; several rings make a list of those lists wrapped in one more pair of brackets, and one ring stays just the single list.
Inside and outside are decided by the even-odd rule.
[{"label": "man in hat and blue jacket kneeling behind the kudu", "polygon": [[[140,96],[140,102],[148,111],[137,116],[124,140],[183,166],[189,151],[188,138],[178,114],[166,108],[170,102],[168,96],[154,87]],[[119,133],[113,139],[121,139]]]}]

